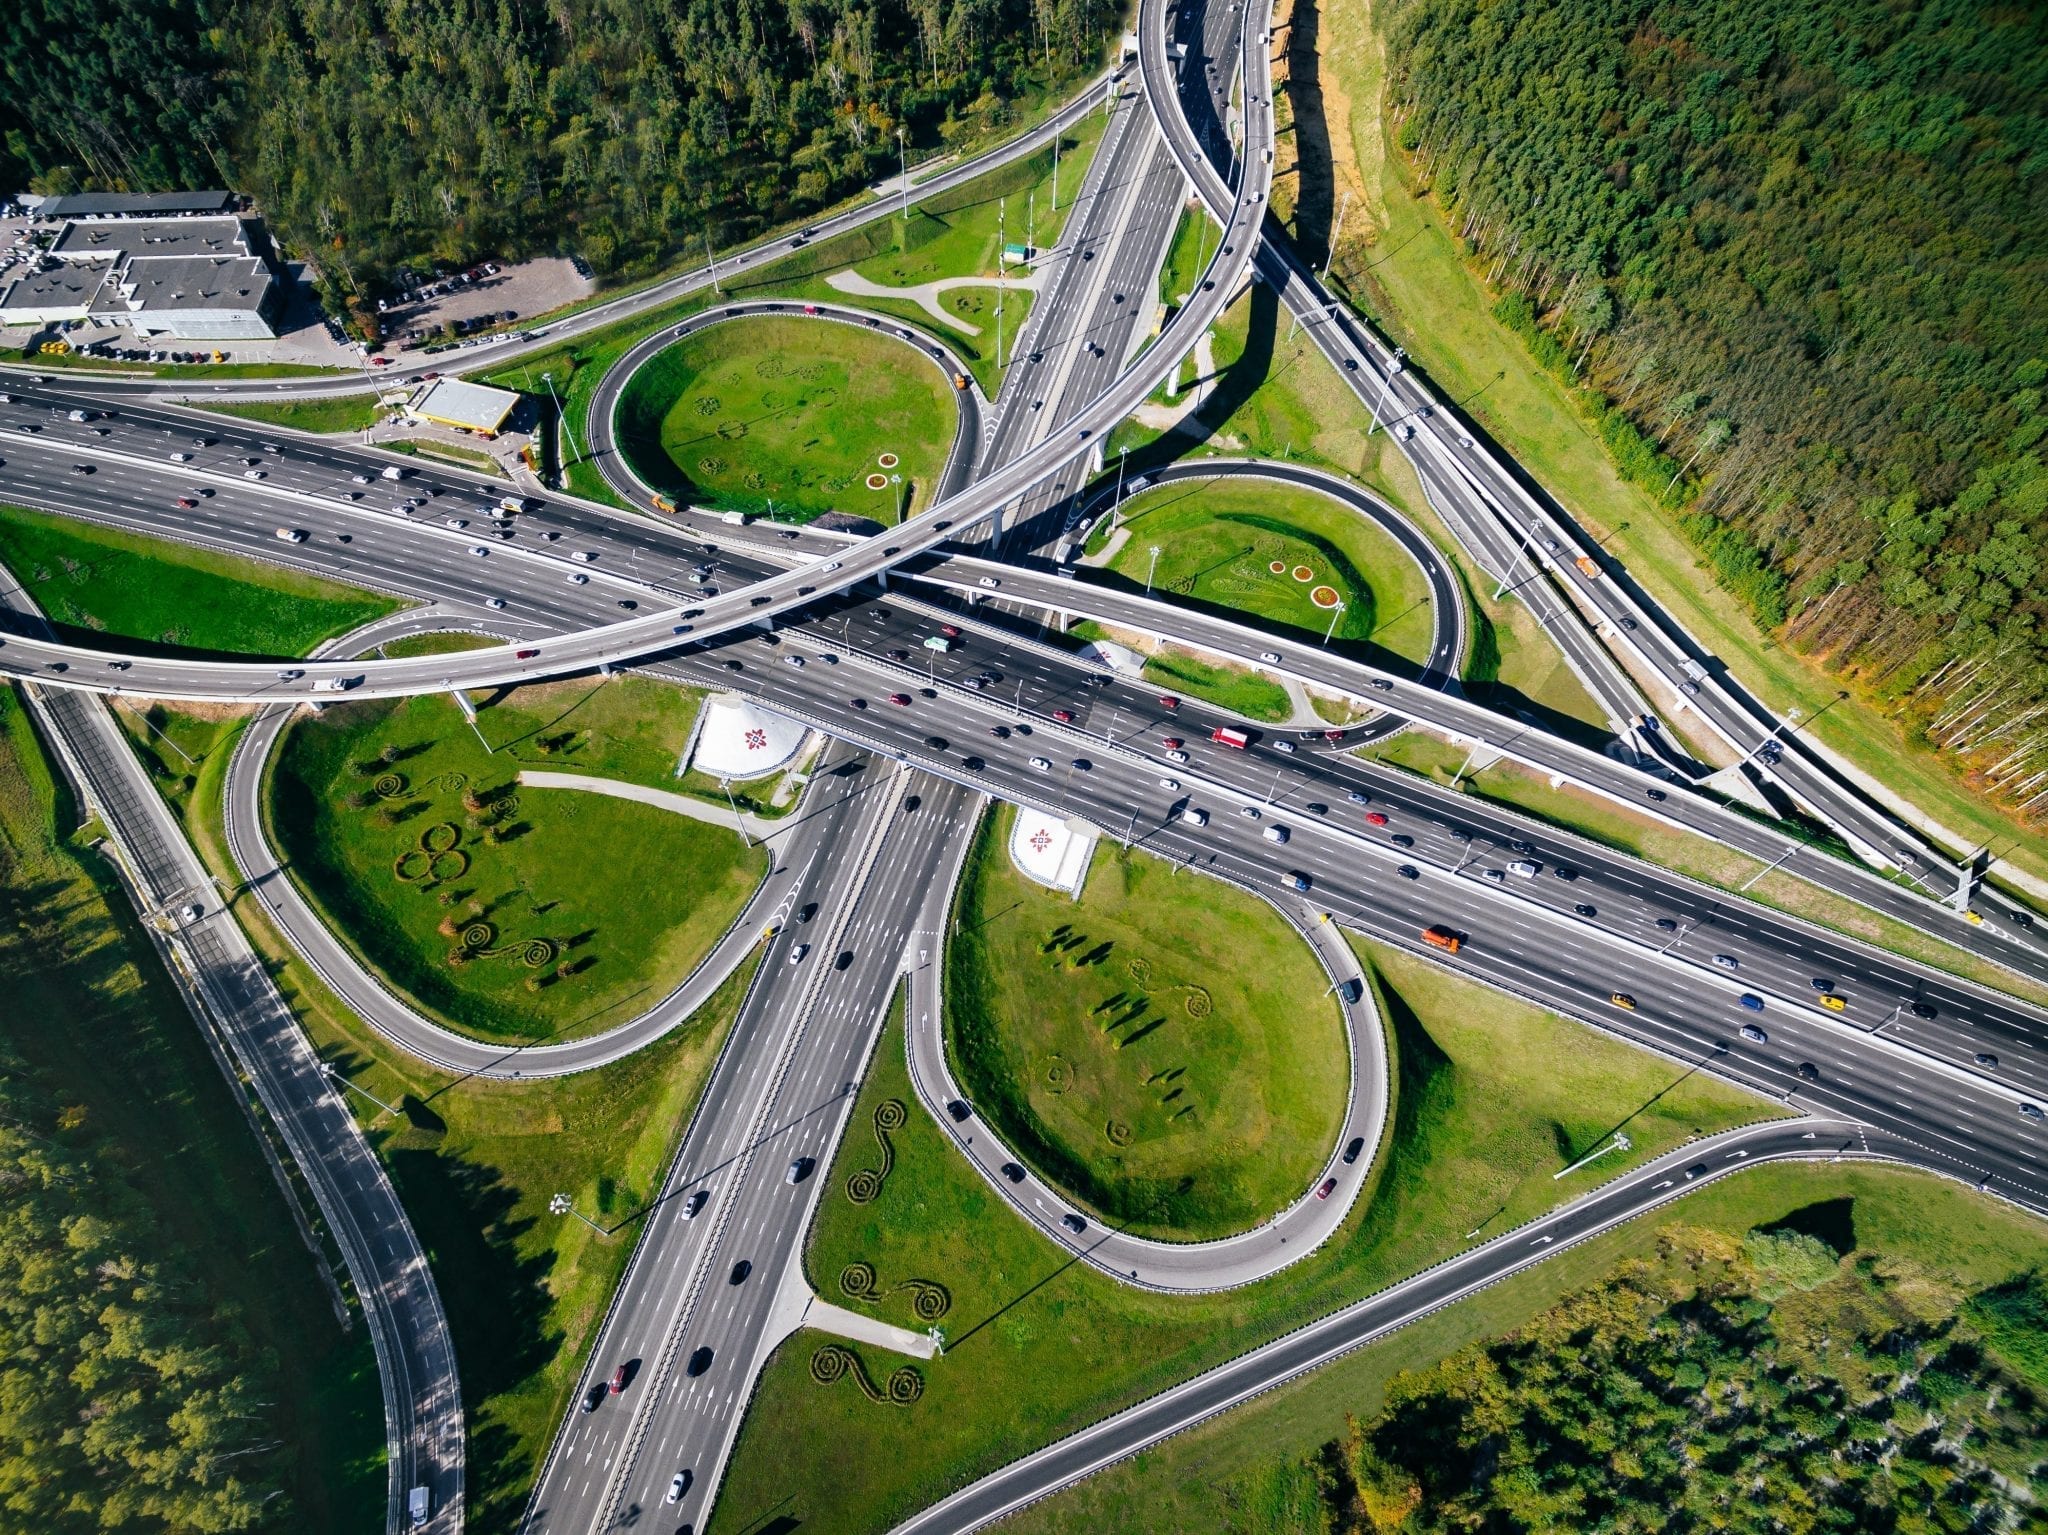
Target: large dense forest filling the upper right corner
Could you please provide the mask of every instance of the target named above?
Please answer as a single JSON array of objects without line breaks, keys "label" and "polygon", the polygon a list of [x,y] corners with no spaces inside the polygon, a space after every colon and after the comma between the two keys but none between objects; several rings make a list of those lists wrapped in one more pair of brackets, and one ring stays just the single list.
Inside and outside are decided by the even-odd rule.
[{"label": "large dense forest filling the upper right corner", "polygon": [[1399,141],[1757,622],[2048,815],[2048,10],[1407,0]]}]

